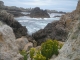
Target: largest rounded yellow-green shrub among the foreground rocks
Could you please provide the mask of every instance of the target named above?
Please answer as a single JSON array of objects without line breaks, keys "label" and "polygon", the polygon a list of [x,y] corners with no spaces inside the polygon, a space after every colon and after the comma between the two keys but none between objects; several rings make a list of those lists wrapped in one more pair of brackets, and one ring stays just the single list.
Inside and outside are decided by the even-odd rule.
[{"label": "largest rounded yellow-green shrub among the foreground rocks", "polygon": [[47,40],[41,45],[41,54],[46,57],[46,60],[48,60],[53,54],[58,55],[58,47],[58,41]]}]

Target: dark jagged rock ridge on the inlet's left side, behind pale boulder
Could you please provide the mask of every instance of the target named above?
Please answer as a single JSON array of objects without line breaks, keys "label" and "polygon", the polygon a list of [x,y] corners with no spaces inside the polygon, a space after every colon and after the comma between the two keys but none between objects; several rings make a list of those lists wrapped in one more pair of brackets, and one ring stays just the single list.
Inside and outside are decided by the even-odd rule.
[{"label": "dark jagged rock ridge on the inlet's left side, behind pale boulder", "polygon": [[27,29],[25,26],[22,26],[18,21],[14,20],[12,14],[7,13],[6,11],[0,12],[0,21],[12,27],[16,38],[20,38],[22,36],[27,35]]}]

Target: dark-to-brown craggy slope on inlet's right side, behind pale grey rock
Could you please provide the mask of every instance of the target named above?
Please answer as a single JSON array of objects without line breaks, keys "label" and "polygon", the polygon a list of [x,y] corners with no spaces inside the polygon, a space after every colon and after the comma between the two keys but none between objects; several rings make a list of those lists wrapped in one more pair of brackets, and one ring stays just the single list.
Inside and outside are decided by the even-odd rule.
[{"label": "dark-to-brown craggy slope on inlet's right side, behind pale grey rock", "polygon": [[56,39],[66,41],[69,31],[74,27],[75,22],[80,16],[80,0],[76,10],[62,15],[59,21],[49,23],[44,29],[32,34],[33,38],[40,45],[46,39]]}]

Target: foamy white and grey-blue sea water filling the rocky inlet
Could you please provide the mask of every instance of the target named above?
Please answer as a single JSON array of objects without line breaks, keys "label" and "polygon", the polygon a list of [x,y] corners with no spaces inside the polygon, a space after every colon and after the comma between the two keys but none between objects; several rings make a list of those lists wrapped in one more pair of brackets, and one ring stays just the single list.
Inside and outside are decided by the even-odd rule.
[{"label": "foamy white and grey-blue sea water filling the rocky inlet", "polygon": [[[59,14],[61,15],[61,14]],[[59,20],[60,17],[52,18],[55,14],[51,14],[51,18],[30,18],[29,16],[15,17],[15,19],[20,22],[23,26],[26,26],[28,29],[28,34],[43,29],[48,23],[51,23],[54,20]]]}]

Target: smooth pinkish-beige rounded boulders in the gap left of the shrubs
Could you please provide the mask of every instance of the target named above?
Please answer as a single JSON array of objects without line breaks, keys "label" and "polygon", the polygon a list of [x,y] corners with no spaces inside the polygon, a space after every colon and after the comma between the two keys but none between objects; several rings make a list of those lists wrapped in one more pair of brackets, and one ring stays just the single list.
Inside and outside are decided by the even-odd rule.
[{"label": "smooth pinkish-beige rounded boulders in the gap left of the shrubs", "polygon": [[24,36],[16,39],[16,43],[20,51],[22,50],[29,51],[29,49],[33,47],[33,43],[29,42],[28,39]]}]

